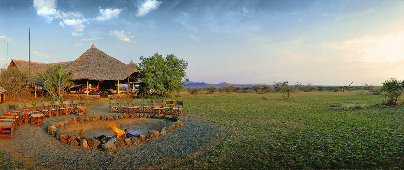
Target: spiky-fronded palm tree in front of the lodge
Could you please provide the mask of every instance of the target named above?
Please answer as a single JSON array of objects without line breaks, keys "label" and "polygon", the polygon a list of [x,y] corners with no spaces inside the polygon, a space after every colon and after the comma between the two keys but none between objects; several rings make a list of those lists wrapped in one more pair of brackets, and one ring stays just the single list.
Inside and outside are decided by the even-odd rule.
[{"label": "spiky-fronded palm tree in front of the lodge", "polygon": [[60,64],[55,65],[53,68],[49,67],[45,73],[40,73],[39,78],[43,82],[43,89],[57,99],[62,97],[63,91],[77,87],[72,81],[69,80],[72,72],[67,72]]}]

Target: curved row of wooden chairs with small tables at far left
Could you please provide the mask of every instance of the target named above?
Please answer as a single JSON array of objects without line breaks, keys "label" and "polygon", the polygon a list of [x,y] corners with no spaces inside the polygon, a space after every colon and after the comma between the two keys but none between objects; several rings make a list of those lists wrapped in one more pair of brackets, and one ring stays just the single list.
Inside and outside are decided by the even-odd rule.
[{"label": "curved row of wooden chairs with small tables at far left", "polygon": [[[61,104],[62,103],[62,104]],[[43,118],[68,114],[86,115],[87,108],[78,100],[19,103],[0,108],[0,137],[10,137],[22,123],[43,124]]]}]

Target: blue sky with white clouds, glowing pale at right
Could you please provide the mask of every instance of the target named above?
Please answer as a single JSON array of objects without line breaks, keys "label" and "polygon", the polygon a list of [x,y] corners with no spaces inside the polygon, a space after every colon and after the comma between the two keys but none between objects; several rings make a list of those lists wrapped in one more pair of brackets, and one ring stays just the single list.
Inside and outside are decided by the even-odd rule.
[{"label": "blue sky with white clouds, glowing pale at right", "polygon": [[0,0],[0,64],[73,61],[94,43],[159,53],[206,83],[380,85],[404,79],[404,1]]}]

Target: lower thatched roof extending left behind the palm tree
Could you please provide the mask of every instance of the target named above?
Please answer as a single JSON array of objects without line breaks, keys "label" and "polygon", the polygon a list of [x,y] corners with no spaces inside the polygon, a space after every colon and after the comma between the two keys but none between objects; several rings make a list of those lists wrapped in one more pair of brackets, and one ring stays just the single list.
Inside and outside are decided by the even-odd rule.
[{"label": "lower thatched roof extending left behind the palm tree", "polygon": [[72,63],[73,61],[67,62],[57,62],[57,63],[40,63],[40,62],[32,62],[25,60],[16,60],[12,59],[9,65],[9,68],[17,68],[22,72],[30,72],[31,75],[37,76],[38,73],[45,72],[50,66],[54,66],[57,64],[61,64],[62,67],[66,67],[68,64]]}]

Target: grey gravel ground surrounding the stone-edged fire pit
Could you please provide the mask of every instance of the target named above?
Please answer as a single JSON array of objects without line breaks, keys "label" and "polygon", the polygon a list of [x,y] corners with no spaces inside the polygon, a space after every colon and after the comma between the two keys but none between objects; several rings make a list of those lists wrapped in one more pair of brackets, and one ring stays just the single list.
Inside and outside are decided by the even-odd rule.
[{"label": "grey gravel ground surrounding the stone-edged fire pit", "polygon": [[[89,109],[88,117],[113,116],[108,106]],[[23,124],[10,138],[0,138],[0,148],[32,168],[175,168],[206,153],[226,137],[226,129],[211,121],[181,116],[184,125],[158,138],[118,148],[108,153],[97,148],[64,144],[45,132],[53,122],[77,115],[45,118],[41,126]]]}]

